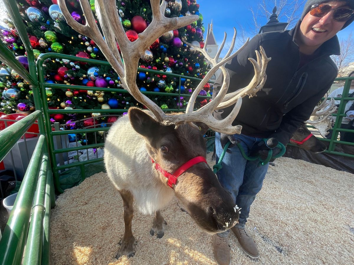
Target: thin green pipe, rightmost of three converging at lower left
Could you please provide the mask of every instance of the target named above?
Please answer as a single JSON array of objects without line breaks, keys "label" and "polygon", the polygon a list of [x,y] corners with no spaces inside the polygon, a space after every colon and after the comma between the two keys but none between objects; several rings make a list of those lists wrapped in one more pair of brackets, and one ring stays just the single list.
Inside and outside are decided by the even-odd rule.
[{"label": "thin green pipe, rightmost of three converging at lower left", "polygon": [[53,195],[53,176],[51,169],[48,168],[46,191],[45,191],[45,214],[43,219],[43,239],[42,239],[42,258],[41,264],[50,265],[50,209],[55,206],[52,204],[52,195]]}]

